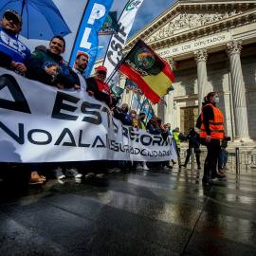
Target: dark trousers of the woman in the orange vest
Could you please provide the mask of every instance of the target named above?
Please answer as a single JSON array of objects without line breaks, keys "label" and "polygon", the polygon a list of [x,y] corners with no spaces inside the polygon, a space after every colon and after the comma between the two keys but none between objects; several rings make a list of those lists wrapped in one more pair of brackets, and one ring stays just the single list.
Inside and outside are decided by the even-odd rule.
[{"label": "dark trousers of the woman in the orange vest", "polygon": [[208,154],[205,160],[204,177],[210,177],[210,171],[212,174],[217,174],[216,164],[220,155],[220,141],[219,139],[210,139],[210,143],[206,143]]}]

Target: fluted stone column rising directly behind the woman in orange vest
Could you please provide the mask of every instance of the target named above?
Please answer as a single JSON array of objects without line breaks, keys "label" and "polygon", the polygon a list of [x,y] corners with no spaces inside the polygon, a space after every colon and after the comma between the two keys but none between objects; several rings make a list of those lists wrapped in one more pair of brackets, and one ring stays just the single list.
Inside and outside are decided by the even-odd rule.
[{"label": "fluted stone column rising directly behind the woman in orange vest", "polygon": [[207,49],[200,49],[193,52],[197,64],[197,84],[198,84],[198,113],[201,113],[203,98],[207,92],[207,66],[208,59]]}]

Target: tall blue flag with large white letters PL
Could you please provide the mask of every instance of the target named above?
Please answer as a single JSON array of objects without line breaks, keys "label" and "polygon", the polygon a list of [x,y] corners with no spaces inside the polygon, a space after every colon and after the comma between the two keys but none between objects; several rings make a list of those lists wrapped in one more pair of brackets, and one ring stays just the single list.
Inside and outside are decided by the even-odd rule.
[{"label": "tall blue flag with large white letters PL", "polygon": [[114,0],[90,0],[84,11],[82,23],[72,51],[69,65],[74,66],[79,52],[89,55],[85,77],[89,77],[98,56],[98,33]]}]

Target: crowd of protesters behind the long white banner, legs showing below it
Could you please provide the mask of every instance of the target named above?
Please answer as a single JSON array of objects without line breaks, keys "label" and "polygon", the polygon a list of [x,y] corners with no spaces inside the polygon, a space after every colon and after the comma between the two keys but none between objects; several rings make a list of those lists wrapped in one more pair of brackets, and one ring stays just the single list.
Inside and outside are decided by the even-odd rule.
[{"label": "crowd of protesters behind the long white banner, legs showing below it", "polygon": [[[198,169],[200,168],[200,139],[199,135],[190,129],[190,134],[185,137],[176,127],[171,132],[171,124],[162,125],[162,119],[155,115],[148,119],[144,112],[130,109],[127,103],[119,105],[119,98],[111,94],[109,85],[104,82],[107,75],[107,68],[100,65],[97,68],[95,77],[85,79],[84,70],[89,62],[89,56],[81,53],[76,57],[74,67],[66,66],[62,54],[65,50],[65,41],[62,36],[54,36],[48,48],[46,46],[37,46],[30,53],[30,50],[22,44],[16,37],[22,29],[22,17],[15,10],[8,9],[1,19],[0,33],[0,66],[15,71],[16,73],[27,77],[27,79],[43,82],[46,85],[56,86],[58,89],[82,90],[86,91],[90,97],[98,101],[105,102],[111,109],[112,116],[119,119],[122,124],[133,127],[137,131],[145,130],[152,135],[161,135],[166,139],[169,135],[174,136],[174,147],[177,154],[178,166],[181,168],[180,142],[189,139],[188,155],[185,164],[187,166],[191,156],[191,148],[195,149]],[[17,50],[19,47],[19,50]],[[223,145],[224,149],[225,145]],[[225,151],[222,151],[224,155]],[[225,166],[225,157],[220,155],[219,170],[222,171]],[[175,164],[174,159],[172,160]],[[224,163],[223,163],[224,162]],[[81,162],[52,162],[52,163],[23,163],[19,164],[27,171],[28,183],[31,185],[43,185],[46,183],[46,177],[54,177],[59,180],[67,177],[81,178],[82,176],[101,177],[105,173],[120,172],[123,170],[148,171],[151,168],[162,169],[169,172],[173,166],[171,161],[163,162],[138,162],[138,161],[81,161]],[[9,163],[0,163],[1,170],[6,169]],[[46,170],[42,175],[41,171]],[[49,172],[50,170],[50,172]],[[221,172],[220,171],[220,172]]]}]

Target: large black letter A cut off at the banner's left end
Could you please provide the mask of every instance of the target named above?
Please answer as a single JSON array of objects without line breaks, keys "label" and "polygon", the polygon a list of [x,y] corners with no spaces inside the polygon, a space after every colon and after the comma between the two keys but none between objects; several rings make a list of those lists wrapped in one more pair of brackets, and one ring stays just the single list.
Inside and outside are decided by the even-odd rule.
[{"label": "large black letter A cut off at the banner's left end", "polygon": [[0,76],[0,91],[5,87],[8,87],[14,101],[0,99],[0,108],[31,114],[27,100],[18,82],[9,74]]}]

